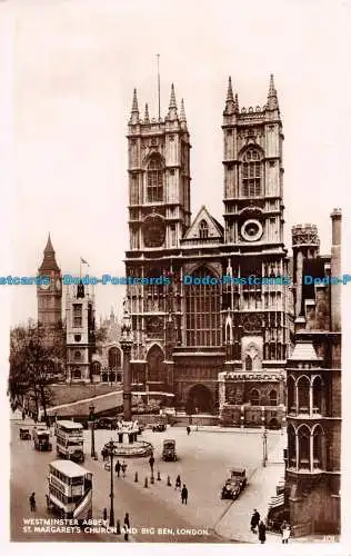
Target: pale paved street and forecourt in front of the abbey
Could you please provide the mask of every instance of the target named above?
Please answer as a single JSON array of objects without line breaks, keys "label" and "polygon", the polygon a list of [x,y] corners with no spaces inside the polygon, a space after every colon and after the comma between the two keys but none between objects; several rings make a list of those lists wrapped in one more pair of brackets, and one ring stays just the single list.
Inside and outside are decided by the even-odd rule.
[{"label": "pale paved street and forecourt in front of the abbey", "polygon": [[[48,463],[54,459],[53,453],[38,453],[32,443],[19,440],[18,429],[21,421],[12,421],[12,477],[11,477],[11,515],[12,539],[18,540],[121,540],[116,535],[32,535],[22,532],[22,518],[31,517],[28,508],[28,497],[32,490],[37,493],[37,517],[47,517],[44,495],[47,494]],[[90,431],[84,431],[84,450],[87,454],[84,466],[93,473],[93,517],[102,518],[104,507],[109,509],[110,474],[104,470],[100,451],[110,438],[117,439],[116,431],[97,430],[96,448],[99,460],[90,457]],[[177,440],[179,460],[163,463],[161,447],[164,438]],[[261,465],[262,438],[260,431],[207,431],[193,430],[190,436],[184,428],[168,428],[166,433],[146,430],[142,439],[154,446],[154,477],[160,470],[161,480],[150,485],[150,468],[148,459],[127,459],[128,469],[126,479],[116,477],[116,518],[123,520],[128,512],[131,526],[134,528],[131,540],[136,542],[187,542],[207,543],[225,542],[233,539],[228,526],[220,527],[223,520],[241,500],[249,496],[247,512],[239,513],[239,525],[248,528],[252,500],[250,489],[254,480],[253,473]],[[281,436],[278,433],[268,435],[268,449],[272,453],[279,446]],[[249,486],[239,500],[232,505],[230,500],[221,500],[220,490],[230,467],[247,468]],[[138,471],[139,481],[134,483]],[[176,476],[180,474],[189,489],[188,505],[180,502],[179,492],[174,490]],[[167,486],[167,476],[170,475],[172,487]],[[149,478],[149,487],[144,488],[144,478]],[[250,477],[252,477],[250,479]],[[280,473],[277,471],[277,481]],[[269,499],[272,495],[264,494]],[[230,508],[230,509],[229,509]],[[235,517],[238,522],[238,516]],[[147,532],[149,529],[149,532]],[[217,535],[214,530],[221,535]],[[68,538],[69,536],[69,538]]]}]

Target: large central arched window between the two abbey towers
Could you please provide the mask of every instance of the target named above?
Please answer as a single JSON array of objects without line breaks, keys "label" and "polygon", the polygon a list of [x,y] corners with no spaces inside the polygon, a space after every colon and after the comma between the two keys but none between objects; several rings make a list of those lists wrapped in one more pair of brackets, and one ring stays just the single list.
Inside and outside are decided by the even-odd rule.
[{"label": "large central arched window between the two abbey towers", "polygon": [[197,282],[184,288],[187,346],[221,345],[220,288],[217,284],[201,284],[207,277],[214,278],[207,268],[195,270]]}]

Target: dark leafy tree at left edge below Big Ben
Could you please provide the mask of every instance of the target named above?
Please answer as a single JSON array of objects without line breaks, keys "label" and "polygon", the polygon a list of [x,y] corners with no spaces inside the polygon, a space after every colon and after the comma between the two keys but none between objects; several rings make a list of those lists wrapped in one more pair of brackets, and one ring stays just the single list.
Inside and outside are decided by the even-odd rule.
[{"label": "dark leafy tree at left edge below Big Ben", "polygon": [[24,407],[24,399],[43,409],[48,424],[47,407],[52,400],[50,384],[52,375],[52,349],[43,345],[43,330],[40,325],[29,322],[11,330],[10,335],[10,376],[8,395],[11,408]]}]

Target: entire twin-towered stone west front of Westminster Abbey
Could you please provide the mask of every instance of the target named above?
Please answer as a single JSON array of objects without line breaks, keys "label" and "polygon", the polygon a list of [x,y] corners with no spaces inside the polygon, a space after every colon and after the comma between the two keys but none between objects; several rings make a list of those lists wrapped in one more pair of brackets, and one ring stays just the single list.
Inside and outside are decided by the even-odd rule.
[{"label": "entire twin-towered stone west front of Westminster Abbey", "polygon": [[[221,285],[221,277],[287,275],[283,136],[272,78],[267,105],[254,110],[240,110],[229,82],[223,135],[224,227],[205,207],[190,221],[183,102],[178,111],[172,87],[164,120],[150,120],[148,107],[141,119],[134,92],[127,275],[170,284],[128,286],[133,388],[172,393],[188,410],[219,409],[223,421],[242,423],[244,411],[255,424],[262,415],[280,419],[287,286]],[[218,285],[191,285],[189,276]]]}]

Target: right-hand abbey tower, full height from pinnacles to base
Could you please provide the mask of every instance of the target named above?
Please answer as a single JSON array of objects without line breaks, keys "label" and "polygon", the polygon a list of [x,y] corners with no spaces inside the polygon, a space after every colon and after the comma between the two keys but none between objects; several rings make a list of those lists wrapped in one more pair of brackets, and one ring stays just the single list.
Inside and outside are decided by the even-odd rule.
[{"label": "right-hand abbey tower, full height from pinnacles to base", "polygon": [[[222,128],[228,274],[247,279],[250,275],[281,277],[283,281],[288,275],[283,133],[272,76],[262,108],[240,110],[229,83]],[[238,424],[278,426],[284,410],[289,342],[287,284],[225,286],[223,294],[225,371],[230,373],[220,376],[222,419],[231,415]],[[261,414],[254,406],[262,407]]]}]

